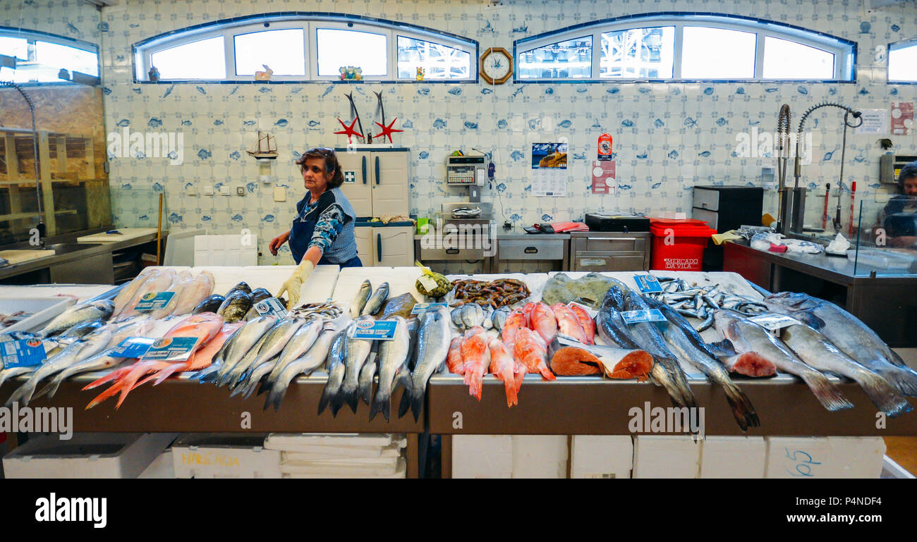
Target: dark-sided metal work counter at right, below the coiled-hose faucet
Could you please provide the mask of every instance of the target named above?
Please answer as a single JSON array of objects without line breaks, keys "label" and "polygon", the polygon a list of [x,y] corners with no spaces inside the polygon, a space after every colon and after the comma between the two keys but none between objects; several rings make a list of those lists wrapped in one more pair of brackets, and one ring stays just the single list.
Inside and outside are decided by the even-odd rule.
[{"label": "dark-sided metal work counter at right, below the coiled-hose faucet", "polygon": [[846,258],[761,251],[745,241],[724,244],[723,270],[772,292],[804,292],[827,299],[863,320],[889,346],[917,346],[917,275],[879,275],[887,271],[863,264],[856,266],[854,275]]}]

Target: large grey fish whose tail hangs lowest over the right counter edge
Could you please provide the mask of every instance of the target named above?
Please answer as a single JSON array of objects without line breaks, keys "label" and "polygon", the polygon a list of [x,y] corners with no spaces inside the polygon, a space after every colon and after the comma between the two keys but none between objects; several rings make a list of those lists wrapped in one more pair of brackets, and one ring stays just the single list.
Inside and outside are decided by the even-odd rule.
[{"label": "large grey fish whose tail hangs lowest over the right counter edge", "polygon": [[668,320],[669,324],[662,334],[675,352],[680,354],[682,359],[700,369],[713,382],[723,386],[726,401],[729,403],[739,428],[746,431],[749,427],[760,427],[761,421],[757,417],[755,407],[752,406],[745,392],[735,385],[723,363],[716,358],[716,354],[703,341],[701,335],[694,331],[691,323],[665,303],[655,299],[645,299],[652,309],[658,309]]}]

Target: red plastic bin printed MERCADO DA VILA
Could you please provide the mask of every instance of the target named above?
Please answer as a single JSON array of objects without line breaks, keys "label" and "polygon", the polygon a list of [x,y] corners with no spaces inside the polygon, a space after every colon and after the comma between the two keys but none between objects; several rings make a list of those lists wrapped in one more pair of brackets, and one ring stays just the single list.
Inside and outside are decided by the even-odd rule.
[{"label": "red plastic bin printed MERCADO DA VILA", "polygon": [[694,219],[649,219],[653,249],[649,268],[660,271],[701,271],[703,249],[716,230]]}]

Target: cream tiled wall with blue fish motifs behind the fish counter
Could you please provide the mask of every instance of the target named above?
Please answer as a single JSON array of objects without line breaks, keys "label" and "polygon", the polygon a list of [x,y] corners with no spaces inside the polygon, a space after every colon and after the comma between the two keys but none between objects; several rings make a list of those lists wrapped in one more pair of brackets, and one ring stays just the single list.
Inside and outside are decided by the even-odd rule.
[{"label": "cream tiled wall with blue fish motifs behind the fish counter", "polygon": [[[4,0],[0,5],[19,5]],[[172,229],[207,227],[213,233],[238,233],[248,227],[259,235],[262,264],[289,262],[274,258],[266,244],[293,217],[293,201],[302,197],[302,181],[293,166],[297,152],[307,146],[339,146],[337,117],[349,118],[344,92],[354,91],[364,116],[374,109],[371,91],[383,92],[386,113],[397,116],[403,134],[396,143],[411,148],[411,211],[429,215],[444,201],[458,201],[457,189],[444,180],[445,157],[471,146],[493,153],[496,181],[482,200],[493,201],[508,220],[520,223],[578,219],[584,211],[691,212],[695,184],[760,186],[761,168],[774,165],[768,157],[735,157],[736,135],[757,127],[773,132],[781,103],[792,108],[794,125],[810,105],[823,100],[848,103],[857,109],[888,109],[891,102],[917,101],[917,85],[886,84],[885,60],[877,48],[917,37],[917,6],[912,3],[867,10],[859,2],[787,0],[735,2],[728,0],[621,0],[613,4],[569,0],[545,4],[515,1],[497,9],[486,2],[468,1],[250,1],[159,0],[128,2],[105,8],[101,21],[73,10],[78,3],[41,3],[27,9],[23,27],[56,31],[100,43],[103,62],[106,129],[128,126],[135,131],[183,133],[184,161],[113,157],[113,188],[162,190],[166,194]],[[130,46],[141,39],[181,27],[232,16],[278,11],[335,11],[376,16],[441,29],[476,39],[481,50],[512,49],[513,40],[542,32],[627,14],[662,11],[704,11],[757,16],[826,32],[857,43],[854,83],[570,83],[513,84],[491,87],[469,84],[138,84],[133,82]],[[17,9],[6,10],[5,26],[17,26]],[[75,18],[71,16],[76,13]],[[75,28],[75,29],[74,29]],[[63,32],[67,34],[67,32]],[[803,169],[803,183],[815,188],[836,186],[842,137],[838,110],[813,114],[815,157]],[[245,150],[254,143],[256,127],[276,135],[281,157],[274,165],[276,181],[257,180],[258,167]],[[607,131],[614,137],[619,191],[592,195],[590,164],[596,138]],[[528,168],[531,144],[569,141],[569,197],[539,198],[531,193]],[[857,200],[865,201],[869,220],[889,197],[878,185],[875,135],[847,135],[844,187],[857,183]],[[913,135],[893,137],[895,150],[917,154]],[[221,184],[246,187],[247,196],[187,195],[187,187]],[[273,201],[274,185],[287,188],[287,201]],[[125,189],[127,190],[127,189]],[[776,198],[768,192],[773,205]],[[809,216],[821,214],[821,198],[810,198]],[[115,209],[117,223],[137,225],[155,221],[149,198],[129,198]],[[768,203],[766,203],[768,205]],[[834,197],[832,199],[834,205]],[[502,211],[501,211],[502,209]],[[844,217],[849,200],[844,199]],[[146,216],[140,221],[139,216]],[[814,221],[812,221],[814,222]]]}]

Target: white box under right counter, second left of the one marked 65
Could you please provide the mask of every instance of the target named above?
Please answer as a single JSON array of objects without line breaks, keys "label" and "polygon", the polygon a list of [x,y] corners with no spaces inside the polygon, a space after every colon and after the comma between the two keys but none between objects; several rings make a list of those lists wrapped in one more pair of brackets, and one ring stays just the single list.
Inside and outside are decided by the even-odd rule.
[{"label": "white box under right counter, second left of the one marked 65", "polygon": [[697,478],[701,442],[689,435],[634,437],[634,478]]}]

